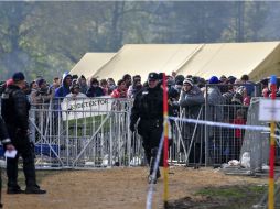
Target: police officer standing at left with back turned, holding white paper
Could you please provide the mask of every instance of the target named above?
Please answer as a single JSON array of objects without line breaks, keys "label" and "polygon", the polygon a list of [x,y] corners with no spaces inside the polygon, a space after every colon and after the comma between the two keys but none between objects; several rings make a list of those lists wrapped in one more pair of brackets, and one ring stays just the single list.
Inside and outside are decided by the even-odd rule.
[{"label": "police officer standing at left with back turned, holding white paper", "polygon": [[25,194],[45,194],[40,189],[35,178],[34,156],[29,141],[29,109],[30,103],[23,88],[24,75],[21,72],[12,76],[13,84],[2,94],[1,114],[7,124],[11,143],[18,151],[14,158],[7,158],[8,194],[21,194],[23,190],[18,185],[18,160],[23,158],[23,172],[25,176]]}]

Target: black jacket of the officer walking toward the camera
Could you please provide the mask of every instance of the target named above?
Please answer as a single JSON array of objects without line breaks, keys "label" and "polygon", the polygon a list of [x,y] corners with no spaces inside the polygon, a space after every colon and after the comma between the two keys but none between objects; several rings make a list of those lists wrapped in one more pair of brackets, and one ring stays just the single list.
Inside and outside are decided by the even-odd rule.
[{"label": "black jacket of the officer walking toward the camera", "polygon": [[136,95],[130,116],[131,124],[136,124],[139,118],[163,121],[163,90],[160,86],[144,87]]}]

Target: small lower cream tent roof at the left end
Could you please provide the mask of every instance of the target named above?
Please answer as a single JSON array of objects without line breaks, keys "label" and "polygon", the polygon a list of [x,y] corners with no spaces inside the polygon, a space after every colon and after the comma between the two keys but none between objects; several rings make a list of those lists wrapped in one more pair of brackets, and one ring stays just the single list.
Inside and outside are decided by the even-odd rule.
[{"label": "small lower cream tent roof at the left end", "polygon": [[88,79],[115,55],[116,53],[86,53],[69,74],[84,75]]}]

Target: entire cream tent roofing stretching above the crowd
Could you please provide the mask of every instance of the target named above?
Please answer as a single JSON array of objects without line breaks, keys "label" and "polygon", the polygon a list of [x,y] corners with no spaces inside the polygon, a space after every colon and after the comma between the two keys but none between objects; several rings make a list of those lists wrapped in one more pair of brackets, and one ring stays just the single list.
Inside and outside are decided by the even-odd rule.
[{"label": "entire cream tent roofing stretching above the crowd", "polygon": [[115,80],[125,74],[140,75],[146,80],[150,72],[176,72],[205,79],[248,74],[255,81],[272,74],[280,76],[280,42],[127,44],[116,54],[105,53],[104,59],[100,53],[87,54],[72,72]]}]

